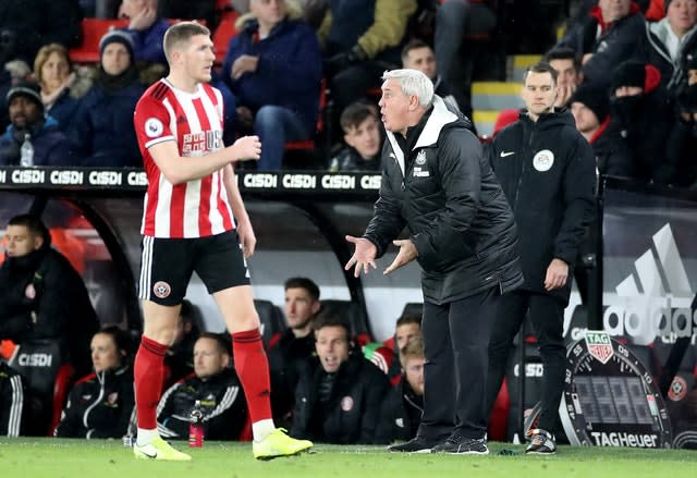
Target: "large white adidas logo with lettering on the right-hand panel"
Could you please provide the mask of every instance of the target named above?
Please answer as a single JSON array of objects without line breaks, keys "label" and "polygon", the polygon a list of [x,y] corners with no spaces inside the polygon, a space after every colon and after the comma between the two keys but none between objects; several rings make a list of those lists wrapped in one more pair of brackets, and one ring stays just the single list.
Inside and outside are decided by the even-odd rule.
[{"label": "large white adidas logo with lettering on the right-hand panel", "polygon": [[657,335],[692,336],[697,330],[697,314],[690,311],[694,292],[670,223],[653,234],[651,246],[615,292],[616,297],[603,297],[610,304],[602,326],[610,335],[628,335],[635,344],[648,345]]}]

